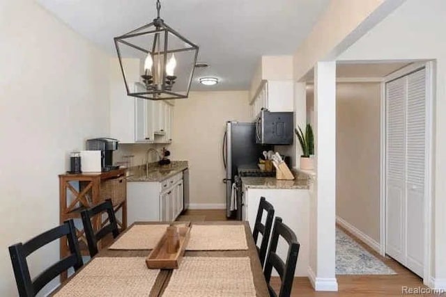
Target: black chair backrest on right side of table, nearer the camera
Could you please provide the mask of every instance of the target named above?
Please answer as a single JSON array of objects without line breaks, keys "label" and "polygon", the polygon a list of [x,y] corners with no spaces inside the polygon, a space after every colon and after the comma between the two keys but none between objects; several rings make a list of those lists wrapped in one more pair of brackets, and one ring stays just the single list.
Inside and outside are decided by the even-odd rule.
[{"label": "black chair backrest on right side of table, nearer the camera", "polygon": [[[279,235],[282,236],[289,244],[288,255],[286,256],[286,262],[276,254],[277,242],[279,241]],[[296,238],[293,230],[287,225],[282,223],[282,218],[276,217],[274,227],[272,229],[270,250],[268,251],[268,257],[266,257],[265,275],[266,282],[268,283],[268,289],[271,296],[277,296],[275,291],[270,286],[270,278],[272,267],[279,273],[281,285],[279,297],[290,296],[291,288],[293,287],[295,264],[298,261],[300,244]]]}]

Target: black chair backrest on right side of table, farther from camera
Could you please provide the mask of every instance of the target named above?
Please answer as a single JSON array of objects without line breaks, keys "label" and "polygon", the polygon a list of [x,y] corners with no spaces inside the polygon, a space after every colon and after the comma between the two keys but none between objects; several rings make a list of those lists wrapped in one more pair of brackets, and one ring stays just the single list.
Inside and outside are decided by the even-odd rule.
[{"label": "black chair backrest on right side of table, farther from camera", "polygon": [[[263,211],[266,211],[265,225],[261,223]],[[259,233],[262,234],[262,242],[260,248],[259,246],[256,246],[262,267],[263,263],[265,262],[266,250],[268,249],[268,241],[270,240],[270,232],[273,219],[274,219],[274,207],[272,207],[272,204],[270,204],[270,202],[266,201],[265,197],[261,197],[259,203],[259,209],[257,210],[257,217],[256,217],[256,223],[254,225],[254,231],[252,232],[252,237],[254,237],[254,242],[257,244],[257,238],[259,237]]]}]

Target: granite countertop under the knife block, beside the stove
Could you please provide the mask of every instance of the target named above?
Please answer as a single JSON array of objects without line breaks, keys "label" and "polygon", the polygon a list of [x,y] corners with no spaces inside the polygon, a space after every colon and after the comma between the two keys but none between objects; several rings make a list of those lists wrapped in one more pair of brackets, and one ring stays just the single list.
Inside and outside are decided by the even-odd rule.
[{"label": "granite countertop under the knife block, beside the stove", "polygon": [[245,188],[309,189],[308,177],[297,173],[293,180],[279,180],[275,177],[241,177],[241,179]]}]

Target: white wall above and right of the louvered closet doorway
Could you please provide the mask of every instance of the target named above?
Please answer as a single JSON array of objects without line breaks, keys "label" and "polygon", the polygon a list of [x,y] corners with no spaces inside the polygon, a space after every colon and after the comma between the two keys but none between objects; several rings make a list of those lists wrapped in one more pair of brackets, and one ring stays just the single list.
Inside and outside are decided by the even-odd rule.
[{"label": "white wall above and right of the louvered closet doorway", "polygon": [[446,1],[408,0],[338,57],[340,61],[436,59],[433,277],[446,287]]}]

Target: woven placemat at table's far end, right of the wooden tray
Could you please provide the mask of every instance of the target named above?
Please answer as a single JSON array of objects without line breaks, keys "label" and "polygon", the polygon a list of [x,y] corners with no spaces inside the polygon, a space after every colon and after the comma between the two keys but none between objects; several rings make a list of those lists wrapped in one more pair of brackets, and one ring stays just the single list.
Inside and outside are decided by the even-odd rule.
[{"label": "woven placemat at table's far end, right of the wooden tray", "polygon": [[244,225],[192,225],[186,250],[247,250]]}]

